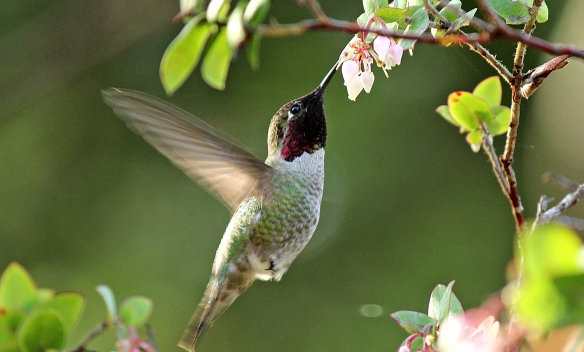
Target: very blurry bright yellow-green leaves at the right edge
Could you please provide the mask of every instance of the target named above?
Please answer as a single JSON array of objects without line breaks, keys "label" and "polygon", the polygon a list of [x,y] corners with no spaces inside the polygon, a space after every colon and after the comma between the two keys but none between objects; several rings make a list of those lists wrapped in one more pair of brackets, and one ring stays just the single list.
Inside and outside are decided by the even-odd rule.
[{"label": "very blurry bright yellow-green leaves at the right edge", "polygon": [[539,332],[584,324],[584,246],[570,228],[552,223],[521,238],[515,261],[521,281],[509,284],[517,316]]}]

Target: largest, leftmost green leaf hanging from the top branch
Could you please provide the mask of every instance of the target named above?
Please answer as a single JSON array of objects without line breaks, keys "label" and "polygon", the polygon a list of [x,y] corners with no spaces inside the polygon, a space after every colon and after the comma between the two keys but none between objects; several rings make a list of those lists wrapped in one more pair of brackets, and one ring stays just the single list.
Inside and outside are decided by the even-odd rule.
[{"label": "largest, leftmost green leaf hanging from the top branch", "polygon": [[202,22],[204,14],[192,18],[170,43],[160,62],[160,80],[166,94],[172,95],[191,75],[209,37],[217,26]]}]

